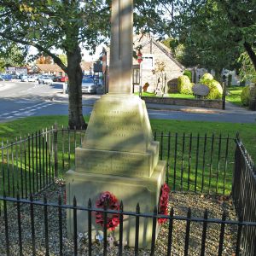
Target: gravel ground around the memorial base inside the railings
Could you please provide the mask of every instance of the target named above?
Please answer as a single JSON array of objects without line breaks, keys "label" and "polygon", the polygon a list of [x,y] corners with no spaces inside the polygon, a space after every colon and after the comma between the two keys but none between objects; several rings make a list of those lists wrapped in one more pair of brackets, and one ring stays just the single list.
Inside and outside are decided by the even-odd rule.
[{"label": "gravel ground around the memorial base inside the railings", "polygon": [[[55,183],[54,186],[44,191],[44,195],[50,198],[50,201],[57,201],[58,195],[63,191],[65,184]],[[43,194],[36,197],[41,200]],[[193,217],[203,217],[204,210],[208,209],[208,218],[221,218],[223,210],[227,212],[227,219],[236,219],[236,214],[232,203],[228,197],[203,196],[194,194],[171,193],[169,207],[174,207],[174,215],[186,216],[188,207],[191,208]],[[32,255],[32,230],[30,207],[22,205],[21,209],[21,229],[22,229],[22,248],[23,255]],[[19,253],[19,234],[17,223],[17,211],[15,208],[8,212],[9,216],[9,244],[10,255],[20,255]],[[45,255],[45,237],[44,237],[44,208],[34,207],[35,223],[35,242],[36,255]],[[67,239],[66,212],[62,211],[63,228],[63,254],[73,255],[73,241]],[[59,222],[58,210],[53,207],[48,209],[49,226],[49,255],[59,255]],[[186,222],[175,220],[172,233],[172,255],[183,255],[185,244]],[[220,224],[208,224],[207,241],[205,255],[218,255],[218,240],[220,233]],[[189,236],[189,256],[200,255],[201,253],[201,234],[202,224],[191,222]],[[5,231],[3,217],[0,218],[0,255],[6,255],[5,252]],[[162,224],[160,233],[156,242],[155,255],[166,255],[168,244],[168,224]],[[79,255],[88,255],[86,237],[79,238]],[[223,255],[232,255],[236,246],[236,226],[225,226],[224,233],[224,251]],[[102,242],[95,241],[92,247],[92,255],[102,255]],[[116,242],[108,244],[108,255],[118,255]],[[134,249],[124,247],[124,255],[134,255]],[[141,249],[139,255],[150,255],[150,251]]]}]

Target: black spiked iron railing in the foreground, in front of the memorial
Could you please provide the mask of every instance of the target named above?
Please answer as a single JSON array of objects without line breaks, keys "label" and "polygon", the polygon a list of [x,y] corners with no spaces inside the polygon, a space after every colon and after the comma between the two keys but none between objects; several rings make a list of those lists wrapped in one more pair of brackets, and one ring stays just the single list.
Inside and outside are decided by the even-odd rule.
[{"label": "black spiked iron railing in the foreground, in front of the memorial", "polygon": [[[249,221],[242,221],[242,220],[230,220],[227,219],[227,215],[225,212],[222,214],[222,218],[208,218],[208,212],[207,210],[204,212],[203,217],[194,217],[192,215],[192,212],[190,208],[188,209],[187,216],[177,216],[174,215],[174,210],[171,208],[169,215],[160,215],[157,214],[156,207],[154,210],[154,213],[142,213],[139,212],[139,205],[137,206],[136,212],[125,212],[123,211],[123,205],[120,204],[119,211],[113,211],[113,210],[104,210],[104,209],[98,209],[91,207],[90,201],[88,202],[88,207],[81,207],[77,206],[76,199],[73,200],[73,205],[64,205],[62,204],[62,197],[59,196],[59,200],[57,202],[48,202],[47,198],[44,197],[44,201],[35,201],[33,199],[33,196],[30,196],[30,199],[20,199],[19,196],[17,198],[14,197],[5,197],[0,196],[0,201],[3,201],[3,217],[2,220],[4,222],[4,241],[2,245],[0,246],[1,253],[3,251],[6,253],[6,255],[13,255],[15,250],[15,244],[17,241],[14,241],[14,236],[16,236],[16,240],[18,240],[19,243],[19,250],[20,255],[24,255],[24,251],[30,252],[32,255],[36,255],[38,250],[40,252],[44,252],[45,255],[54,254],[54,255],[67,255],[64,252],[67,250],[65,247],[69,247],[69,250],[72,249],[73,255],[79,255],[79,234],[77,233],[77,216],[78,211],[84,212],[83,214],[88,214],[88,234],[87,234],[87,241],[86,241],[86,249],[84,248],[84,252],[87,252],[88,255],[92,255],[94,253],[92,248],[92,243],[95,240],[95,238],[92,236],[92,221],[91,216],[94,212],[103,212],[104,215],[104,225],[103,225],[103,237],[102,237],[102,244],[100,245],[102,254],[108,255],[108,230],[107,230],[107,218],[108,214],[116,213],[119,215],[119,237],[123,237],[123,221],[124,217],[126,216],[133,216],[137,218],[136,226],[135,226],[135,233],[137,234],[135,239],[135,247],[134,247],[134,253],[135,255],[138,255],[139,248],[138,248],[138,232],[139,232],[139,225],[143,224],[144,218],[152,218],[153,219],[153,225],[152,225],[152,239],[151,239],[151,246],[150,249],[146,251],[148,253],[147,255],[154,255],[156,250],[156,221],[158,218],[166,218],[167,219],[167,226],[168,226],[168,233],[166,236],[168,236],[168,239],[166,240],[166,244],[161,244],[160,247],[166,247],[166,251],[162,252],[160,255],[171,255],[172,250],[175,249],[177,244],[173,242],[173,237],[175,234],[173,234],[173,226],[179,222],[185,222],[185,228],[184,233],[185,237],[183,239],[183,249],[182,254],[183,255],[189,255],[189,252],[191,250],[191,247],[193,247],[193,243],[190,244],[190,236],[191,233],[193,233],[192,227],[193,224],[199,224],[201,227],[201,235],[198,237],[196,236],[196,239],[200,241],[200,254],[206,255],[207,251],[206,248],[209,246],[209,244],[212,244],[211,237],[207,237],[207,231],[210,229],[211,225],[218,225],[217,232],[218,232],[218,239],[216,242],[216,247],[214,248],[216,250],[216,254],[212,252],[212,255],[225,255],[224,252],[224,244],[230,239],[229,236],[225,236],[226,230],[233,229],[236,230],[234,232],[233,238],[234,244],[232,246],[231,250],[234,250],[234,253],[236,255],[241,255],[241,253],[245,253],[245,247],[241,246],[241,234],[243,234],[243,230],[246,230],[248,228],[250,229],[256,229],[256,222],[249,222]],[[9,203],[15,203],[15,207],[11,209],[12,214],[17,216],[16,218],[16,226],[17,230],[14,230],[12,228],[9,228],[9,208],[7,205]],[[22,212],[22,208],[28,207],[29,208],[29,235],[24,234],[24,225],[22,225],[23,218],[21,218],[20,212]],[[55,215],[52,215],[51,218],[49,218],[49,210],[55,209]],[[41,211],[42,216],[44,218],[38,218],[36,211]],[[64,218],[66,216],[67,211],[73,211],[73,230],[74,235],[70,239],[67,238],[67,231],[66,231],[66,223],[63,223]],[[54,219],[52,219],[54,217]],[[55,230],[49,231],[49,224],[52,224],[53,222],[58,223]],[[13,225],[13,224],[12,224]],[[38,227],[40,227],[40,230],[38,230]],[[182,232],[182,230],[179,230]],[[39,232],[43,232],[43,236],[39,235]],[[2,235],[3,236],[3,235]],[[40,236],[40,240],[38,240],[38,236]],[[49,246],[49,241],[53,240],[53,237],[55,237],[55,245],[54,247]],[[29,242],[27,241],[29,240]],[[118,241],[118,255],[123,255],[124,253],[124,244],[122,239]],[[194,245],[195,246],[195,245]],[[209,249],[209,248],[208,248]],[[212,249],[212,250],[214,250]],[[17,252],[15,252],[17,253]],[[224,254],[223,254],[224,253]],[[253,255],[252,253],[245,253],[245,255]]]}]

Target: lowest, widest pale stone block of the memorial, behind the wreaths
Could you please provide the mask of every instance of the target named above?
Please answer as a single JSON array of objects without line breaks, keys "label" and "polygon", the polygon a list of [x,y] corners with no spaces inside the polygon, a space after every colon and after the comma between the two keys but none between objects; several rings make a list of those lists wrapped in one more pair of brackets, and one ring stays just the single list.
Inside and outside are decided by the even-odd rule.
[{"label": "lowest, widest pale stone block of the memorial, behind the wreaths", "polygon": [[[160,187],[165,182],[165,161],[159,161],[150,178],[143,177],[119,177],[85,172],[67,172],[67,204],[73,204],[73,196],[76,196],[79,206],[87,207],[89,199],[92,207],[96,207],[96,200],[103,191],[110,191],[124,203],[125,212],[136,212],[137,203],[140,212],[154,211],[158,206]],[[93,216],[93,215],[92,215]],[[73,211],[67,211],[67,230],[69,236],[73,234]],[[135,217],[124,216],[123,241],[128,246],[135,246]],[[92,217],[92,238],[102,230],[100,224],[96,224]],[[157,226],[156,232],[158,233]],[[88,231],[88,217],[84,211],[78,211],[78,233]],[[114,231],[109,231],[116,240],[119,240],[119,226]],[[141,218],[139,229],[139,247],[150,247],[152,238],[152,218]]]}]

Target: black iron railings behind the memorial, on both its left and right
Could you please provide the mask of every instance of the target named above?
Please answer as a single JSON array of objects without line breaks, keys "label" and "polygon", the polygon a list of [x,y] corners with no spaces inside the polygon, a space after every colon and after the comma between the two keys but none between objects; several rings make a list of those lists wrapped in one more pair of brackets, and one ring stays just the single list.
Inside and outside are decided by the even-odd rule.
[{"label": "black iron railings behind the memorial, on both its left and right", "polygon": [[[84,131],[52,127],[0,147],[0,195],[20,192],[27,198],[74,166],[75,148]],[[230,137],[154,133],[160,160],[166,160],[166,183],[173,191],[230,195],[235,143]]]}]

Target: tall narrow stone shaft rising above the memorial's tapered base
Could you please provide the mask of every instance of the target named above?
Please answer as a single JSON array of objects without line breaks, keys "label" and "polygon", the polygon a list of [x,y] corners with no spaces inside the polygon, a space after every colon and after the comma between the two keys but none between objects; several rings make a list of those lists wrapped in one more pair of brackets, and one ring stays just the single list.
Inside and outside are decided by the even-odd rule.
[{"label": "tall narrow stone shaft rising above the memorial's tapered base", "polygon": [[108,91],[131,93],[133,49],[133,1],[113,0]]}]

